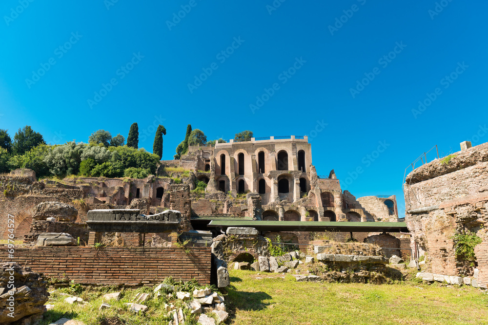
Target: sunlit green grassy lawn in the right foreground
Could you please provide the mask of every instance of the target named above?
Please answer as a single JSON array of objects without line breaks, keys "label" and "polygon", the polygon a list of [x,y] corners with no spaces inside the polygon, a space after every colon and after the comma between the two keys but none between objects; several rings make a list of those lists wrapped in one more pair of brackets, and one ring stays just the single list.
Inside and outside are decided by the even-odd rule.
[{"label": "sunlit green grassy lawn in the right foreground", "polygon": [[488,294],[473,287],[310,283],[229,271],[230,324],[488,324]]}]

